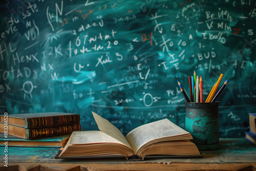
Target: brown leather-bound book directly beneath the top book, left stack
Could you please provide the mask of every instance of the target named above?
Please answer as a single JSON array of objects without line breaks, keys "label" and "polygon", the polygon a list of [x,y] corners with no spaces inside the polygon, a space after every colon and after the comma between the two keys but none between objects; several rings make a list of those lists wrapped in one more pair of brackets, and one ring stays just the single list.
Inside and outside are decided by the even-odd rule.
[{"label": "brown leather-bound book directly beneath the top book, left stack", "polygon": [[[7,127],[6,127],[7,126]],[[15,125],[5,125],[0,123],[0,133],[5,133],[5,129],[8,129],[8,135],[13,135],[24,139],[36,139],[51,137],[57,135],[71,134],[73,131],[80,131],[80,124],[72,125],[61,125],[61,126],[51,126],[51,127],[41,127],[37,129],[25,129],[24,127]]]}]

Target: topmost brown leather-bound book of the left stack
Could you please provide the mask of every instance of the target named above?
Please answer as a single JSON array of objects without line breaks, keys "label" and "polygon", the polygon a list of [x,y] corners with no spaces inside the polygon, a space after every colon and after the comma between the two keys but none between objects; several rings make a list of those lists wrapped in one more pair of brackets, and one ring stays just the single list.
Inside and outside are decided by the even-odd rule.
[{"label": "topmost brown leather-bound book of the left stack", "polygon": [[2,115],[0,122],[5,122],[7,118],[9,125],[22,126],[26,129],[77,124],[80,122],[79,114],[60,112]]}]

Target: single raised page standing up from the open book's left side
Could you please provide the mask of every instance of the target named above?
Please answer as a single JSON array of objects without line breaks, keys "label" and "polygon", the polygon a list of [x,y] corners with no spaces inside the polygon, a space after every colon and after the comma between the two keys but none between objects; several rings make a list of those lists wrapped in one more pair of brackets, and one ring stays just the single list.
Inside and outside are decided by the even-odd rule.
[{"label": "single raised page standing up from the open book's left side", "polygon": [[126,146],[129,146],[130,148],[132,148],[129,142],[125,139],[121,131],[118,130],[116,126],[114,126],[108,120],[100,117],[98,114],[94,112],[92,113],[100,131],[110,135],[111,137],[114,137],[115,139],[121,141]]}]

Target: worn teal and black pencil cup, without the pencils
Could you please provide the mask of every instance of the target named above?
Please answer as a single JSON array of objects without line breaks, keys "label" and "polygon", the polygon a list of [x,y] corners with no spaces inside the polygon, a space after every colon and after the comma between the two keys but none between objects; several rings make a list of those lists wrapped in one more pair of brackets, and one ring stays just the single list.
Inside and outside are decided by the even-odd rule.
[{"label": "worn teal and black pencil cup, without the pencils", "polygon": [[185,102],[185,130],[193,136],[200,151],[220,148],[219,144],[219,103]]}]

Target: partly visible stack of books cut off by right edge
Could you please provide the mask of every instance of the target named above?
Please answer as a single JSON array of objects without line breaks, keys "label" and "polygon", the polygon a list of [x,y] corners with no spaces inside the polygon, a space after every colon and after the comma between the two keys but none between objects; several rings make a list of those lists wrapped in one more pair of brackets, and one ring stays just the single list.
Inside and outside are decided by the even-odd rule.
[{"label": "partly visible stack of books cut off by right edge", "polygon": [[249,113],[250,131],[245,133],[245,139],[256,146],[256,113]]}]

